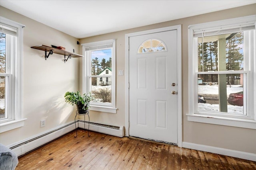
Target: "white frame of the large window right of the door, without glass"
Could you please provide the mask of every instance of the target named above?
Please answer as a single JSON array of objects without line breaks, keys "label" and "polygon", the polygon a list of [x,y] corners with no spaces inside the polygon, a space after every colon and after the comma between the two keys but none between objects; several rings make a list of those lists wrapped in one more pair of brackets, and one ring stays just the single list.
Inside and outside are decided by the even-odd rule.
[{"label": "white frame of the large window right of the door, without glass", "polygon": [[[245,41],[244,43],[249,44],[248,49],[245,49],[245,53],[248,53],[248,60],[244,60],[244,64],[247,65],[247,69],[242,71],[246,72],[246,91],[247,91],[247,106],[244,106],[246,109],[246,115],[234,115],[234,114],[225,114],[218,112],[218,114],[209,111],[201,111],[200,113],[197,110],[197,72],[198,72],[198,55],[197,55],[197,41],[194,37],[194,34],[200,33],[202,31],[208,31],[209,33],[231,30],[241,27],[254,27],[254,30],[251,31],[250,42]],[[245,16],[240,18],[233,18],[228,20],[213,21],[208,23],[201,23],[196,25],[190,25],[188,27],[188,64],[189,64],[189,113],[188,121],[201,122],[201,123],[211,123],[216,125],[227,125],[233,127],[243,127],[249,129],[256,129],[256,15]],[[220,34],[220,33],[218,33]],[[246,35],[247,36],[247,35]],[[246,61],[247,60],[247,61]],[[228,71],[229,74],[232,71]],[[239,72],[239,71],[238,71]],[[218,73],[218,72],[216,72]],[[220,72],[219,72],[220,73]],[[209,72],[208,74],[212,74]],[[228,73],[227,73],[228,74]]]}]

